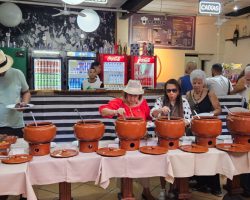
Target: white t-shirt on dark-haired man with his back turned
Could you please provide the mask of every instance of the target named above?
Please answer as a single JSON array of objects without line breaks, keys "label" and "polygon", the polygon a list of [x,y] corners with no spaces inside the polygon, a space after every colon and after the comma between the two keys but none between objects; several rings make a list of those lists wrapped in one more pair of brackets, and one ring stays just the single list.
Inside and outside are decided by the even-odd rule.
[{"label": "white t-shirt on dark-haired man with his back turned", "polygon": [[214,91],[216,96],[227,95],[228,87],[230,87],[230,92],[233,90],[232,83],[226,77],[222,75],[209,77],[207,78],[206,81],[207,81],[208,89]]}]

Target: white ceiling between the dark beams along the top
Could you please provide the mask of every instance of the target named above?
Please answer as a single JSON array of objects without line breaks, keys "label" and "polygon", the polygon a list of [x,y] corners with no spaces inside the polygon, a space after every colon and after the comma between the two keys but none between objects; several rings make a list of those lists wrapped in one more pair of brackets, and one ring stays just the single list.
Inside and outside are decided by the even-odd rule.
[{"label": "white ceiling between the dark beams along the top", "polygon": [[[223,5],[222,8],[223,13],[232,12],[233,7],[235,5],[237,5],[240,9],[250,6],[250,0],[220,0],[220,1]],[[6,0],[0,0],[0,2],[6,2]],[[11,2],[63,6],[61,0],[16,0]],[[121,6],[125,2],[126,0],[108,0],[107,4],[82,3],[74,7],[75,8],[95,7],[99,9],[102,9],[100,7],[103,7],[103,10],[105,9],[121,10]],[[199,0],[153,0],[139,12],[167,14],[167,15],[198,15],[198,3]]]}]

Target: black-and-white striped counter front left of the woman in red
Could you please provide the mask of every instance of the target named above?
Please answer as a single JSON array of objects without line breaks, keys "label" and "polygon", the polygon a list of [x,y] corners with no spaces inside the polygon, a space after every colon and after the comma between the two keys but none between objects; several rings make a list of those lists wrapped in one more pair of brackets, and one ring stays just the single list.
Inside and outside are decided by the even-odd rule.
[{"label": "black-and-white striped counter front left of the woman in red", "polygon": [[[102,118],[98,108],[113,97],[107,96],[33,96],[31,103],[35,106],[32,112],[37,121],[50,121],[57,126],[55,141],[75,140],[73,125],[80,120],[75,108],[83,119],[96,119],[105,124],[103,139],[115,137],[114,119]],[[33,122],[28,110],[24,113],[25,123]]]}]

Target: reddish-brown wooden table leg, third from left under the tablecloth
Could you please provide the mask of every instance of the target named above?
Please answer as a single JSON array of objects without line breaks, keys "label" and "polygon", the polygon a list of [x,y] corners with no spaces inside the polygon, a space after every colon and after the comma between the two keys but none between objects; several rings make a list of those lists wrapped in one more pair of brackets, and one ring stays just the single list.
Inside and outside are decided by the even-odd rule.
[{"label": "reddish-brown wooden table leg, third from left under the tablecloth", "polygon": [[189,192],[188,178],[176,178],[175,179],[177,189],[177,199],[188,200],[191,199],[191,192]]}]

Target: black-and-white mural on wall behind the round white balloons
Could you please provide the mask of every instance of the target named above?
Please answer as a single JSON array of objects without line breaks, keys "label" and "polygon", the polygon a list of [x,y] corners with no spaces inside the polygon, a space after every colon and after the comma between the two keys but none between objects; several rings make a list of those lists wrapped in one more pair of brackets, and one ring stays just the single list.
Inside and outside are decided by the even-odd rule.
[{"label": "black-and-white mural on wall behind the round white balloons", "polygon": [[[0,24],[0,44],[8,47],[53,49],[69,51],[98,51],[105,44],[115,42],[116,13],[96,11],[100,25],[93,32],[83,31],[77,15],[59,15],[57,7],[18,4],[23,19],[16,27]],[[80,9],[71,9],[80,12]],[[86,12],[86,10],[85,10]],[[10,35],[7,45],[6,34]],[[15,45],[14,45],[15,44]]]}]

